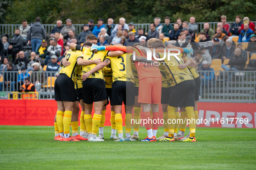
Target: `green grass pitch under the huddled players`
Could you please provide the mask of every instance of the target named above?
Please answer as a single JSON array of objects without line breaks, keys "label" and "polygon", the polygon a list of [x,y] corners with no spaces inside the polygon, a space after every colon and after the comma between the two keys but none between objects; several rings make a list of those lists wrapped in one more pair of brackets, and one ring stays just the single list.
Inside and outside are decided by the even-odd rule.
[{"label": "green grass pitch under the huddled players", "polygon": [[[0,126],[0,132],[1,170],[256,167],[256,129],[197,128],[197,142],[113,142],[110,127],[104,142],[55,141],[53,126]],[[139,137],[146,137],[146,129]]]}]

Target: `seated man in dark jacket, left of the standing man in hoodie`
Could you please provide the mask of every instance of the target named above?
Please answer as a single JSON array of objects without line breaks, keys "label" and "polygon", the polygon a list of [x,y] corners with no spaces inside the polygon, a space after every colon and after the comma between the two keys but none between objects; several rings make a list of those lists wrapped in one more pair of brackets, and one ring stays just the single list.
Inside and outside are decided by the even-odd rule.
[{"label": "seated man in dark jacket, left of the standing man in hoodie", "polygon": [[12,54],[13,62],[23,45],[23,38],[19,35],[19,28],[16,28],[14,33],[15,35],[13,36],[12,41],[8,47],[8,54]]}]

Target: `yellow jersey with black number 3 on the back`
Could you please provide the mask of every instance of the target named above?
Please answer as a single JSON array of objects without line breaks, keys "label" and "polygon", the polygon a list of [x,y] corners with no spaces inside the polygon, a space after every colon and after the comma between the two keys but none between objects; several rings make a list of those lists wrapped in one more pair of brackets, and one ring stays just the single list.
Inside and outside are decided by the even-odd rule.
[{"label": "yellow jersey with black number 3 on the back", "polygon": [[110,60],[110,66],[113,72],[113,82],[117,80],[125,82],[134,82],[132,63],[130,58],[126,60],[126,53],[116,57],[106,57],[106,59]]}]

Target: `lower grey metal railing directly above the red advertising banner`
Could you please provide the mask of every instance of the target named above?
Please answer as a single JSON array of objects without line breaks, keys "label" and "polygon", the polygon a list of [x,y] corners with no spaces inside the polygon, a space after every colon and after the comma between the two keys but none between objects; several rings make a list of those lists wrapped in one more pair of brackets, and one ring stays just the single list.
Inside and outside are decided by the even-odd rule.
[{"label": "lower grey metal railing directly above the red advertising banner", "polygon": [[[256,103],[256,71],[198,71],[200,76],[205,76],[214,72],[214,79],[207,81],[203,79],[200,88],[201,102],[242,102],[242,103]],[[3,72],[3,75],[11,72]],[[19,72],[12,72],[3,82],[13,80],[11,76],[18,76]],[[50,76],[47,77],[47,74]],[[55,72],[31,72],[31,82],[39,88],[38,99],[54,99],[54,81],[52,76]],[[35,76],[43,76],[42,82],[36,82]],[[38,84],[39,83],[39,84]],[[17,91],[23,82],[10,83],[10,85],[3,86],[8,99],[9,93]],[[12,89],[12,86],[13,89]],[[2,91],[2,89],[0,89]],[[11,98],[13,98],[11,96]]]}]

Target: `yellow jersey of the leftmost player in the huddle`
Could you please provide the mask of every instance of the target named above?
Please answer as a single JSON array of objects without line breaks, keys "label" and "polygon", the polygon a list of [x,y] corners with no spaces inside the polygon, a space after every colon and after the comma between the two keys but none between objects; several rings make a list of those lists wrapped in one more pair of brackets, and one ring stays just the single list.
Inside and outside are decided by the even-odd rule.
[{"label": "yellow jersey of the leftmost player in the huddle", "polygon": [[65,67],[62,66],[61,71],[59,72],[60,74],[65,74],[68,77],[70,77],[73,82],[75,82],[75,77],[76,75],[79,75],[81,73],[81,66],[78,66],[77,59],[81,57],[84,57],[84,54],[82,51],[78,50],[68,50],[68,53],[65,55],[65,59],[68,59],[70,62],[70,65]]}]

